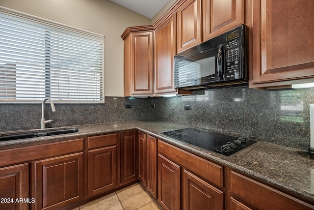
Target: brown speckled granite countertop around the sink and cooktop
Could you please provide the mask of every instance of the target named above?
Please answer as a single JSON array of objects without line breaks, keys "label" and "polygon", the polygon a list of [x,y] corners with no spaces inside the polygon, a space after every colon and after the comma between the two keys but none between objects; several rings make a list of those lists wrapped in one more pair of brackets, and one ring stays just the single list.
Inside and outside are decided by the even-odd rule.
[{"label": "brown speckled granite countertop around the sink and cooktop", "polygon": [[314,159],[309,158],[305,150],[257,142],[231,156],[225,156],[161,134],[166,131],[186,128],[183,125],[162,121],[110,122],[78,125],[77,127],[79,131],[71,134],[0,142],[0,150],[138,129],[178,148],[228,166],[314,204]]}]

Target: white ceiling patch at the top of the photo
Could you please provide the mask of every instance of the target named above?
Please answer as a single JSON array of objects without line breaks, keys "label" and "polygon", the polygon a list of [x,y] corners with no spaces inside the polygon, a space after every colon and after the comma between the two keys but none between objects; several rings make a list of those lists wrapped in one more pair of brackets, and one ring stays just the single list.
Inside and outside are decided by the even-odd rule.
[{"label": "white ceiling patch at the top of the photo", "polygon": [[162,7],[169,0],[110,0],[134,12],[137,12],[149,19],[155,17],[155,15],[162,9]]}]

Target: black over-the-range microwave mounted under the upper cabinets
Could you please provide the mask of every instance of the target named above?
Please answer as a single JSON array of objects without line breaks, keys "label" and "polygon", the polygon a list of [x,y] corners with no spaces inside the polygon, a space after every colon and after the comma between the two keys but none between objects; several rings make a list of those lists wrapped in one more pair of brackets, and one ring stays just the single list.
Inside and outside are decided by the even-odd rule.
[{"label": "black over-the-range microwave mounted under the upper cabinets", "polygon": [[248,84],[248,28],[241,25],[174,57],[175,88]]}]

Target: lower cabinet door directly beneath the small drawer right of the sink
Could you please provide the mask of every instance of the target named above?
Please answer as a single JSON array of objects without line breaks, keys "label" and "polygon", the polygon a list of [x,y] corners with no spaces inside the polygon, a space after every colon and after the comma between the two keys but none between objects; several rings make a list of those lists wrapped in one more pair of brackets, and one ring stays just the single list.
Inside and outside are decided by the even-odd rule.
[{"label": "lower cabinet door directly beneath the small drawer right of the sink", "polygon": [[88,196],[117,185],[117,146],[88,151]]}]

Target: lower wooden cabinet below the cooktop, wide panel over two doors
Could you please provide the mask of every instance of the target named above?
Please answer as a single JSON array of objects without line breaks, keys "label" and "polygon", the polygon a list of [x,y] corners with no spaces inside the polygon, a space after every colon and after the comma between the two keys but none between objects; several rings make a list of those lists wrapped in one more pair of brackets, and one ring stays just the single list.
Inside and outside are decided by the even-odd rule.
[{"label": "lower wooden cabinet below the cooktop, wide panel over two doors", "polygon": [[158,141],[157,200],[164,209],[223,210],[223,185],[222,166]]}]

